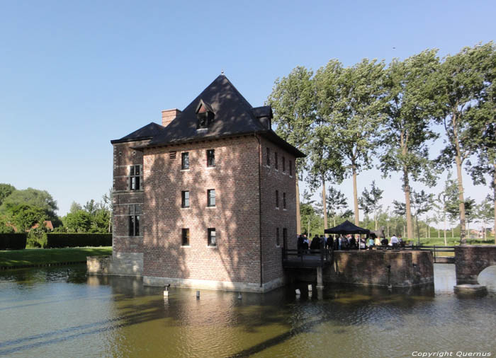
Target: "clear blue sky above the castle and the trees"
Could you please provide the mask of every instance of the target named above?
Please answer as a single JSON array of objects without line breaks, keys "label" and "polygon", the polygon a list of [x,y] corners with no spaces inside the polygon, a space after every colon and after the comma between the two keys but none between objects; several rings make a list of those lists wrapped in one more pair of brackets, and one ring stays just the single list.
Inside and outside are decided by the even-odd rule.
[{"label": "clear blue sky above the castle and the trees", "polygon": [[[495,1],[0,0],[0,183],[47,190],[63,215],[111,187],[111,139],[183,109],[222,69],[263,105],[298,65],[495,40],[495,13]],[[359,192],[377,177],[360,175]],[[378,183],[385,205],[402,199],[397,178]],[[351,207],[351,180],[340,187]]]}]

